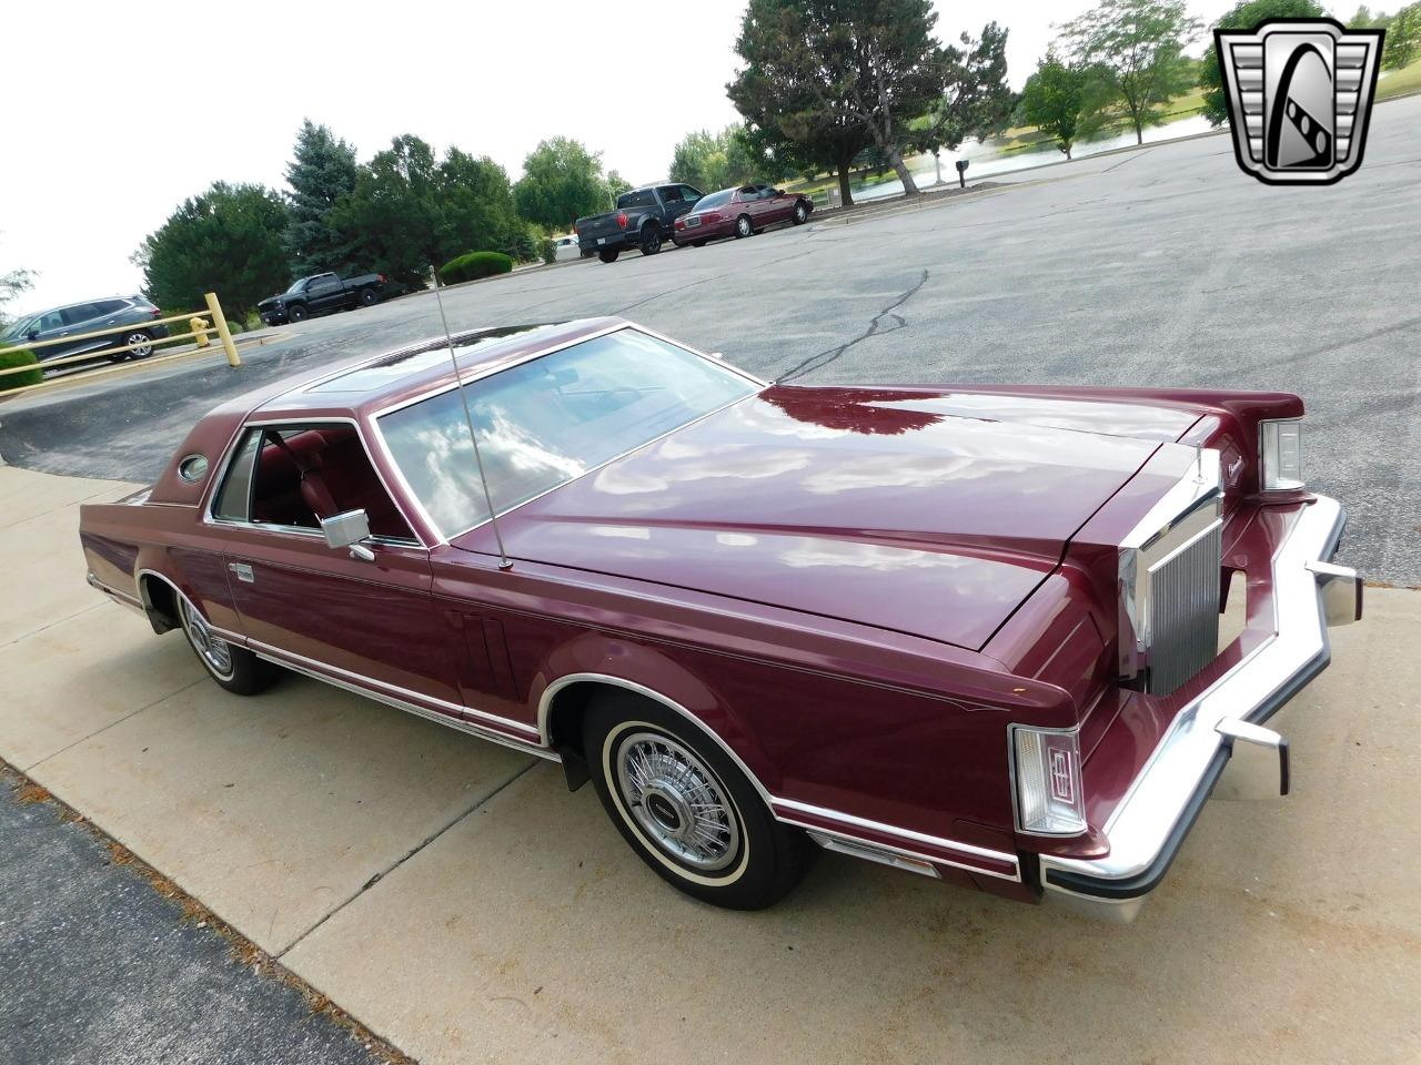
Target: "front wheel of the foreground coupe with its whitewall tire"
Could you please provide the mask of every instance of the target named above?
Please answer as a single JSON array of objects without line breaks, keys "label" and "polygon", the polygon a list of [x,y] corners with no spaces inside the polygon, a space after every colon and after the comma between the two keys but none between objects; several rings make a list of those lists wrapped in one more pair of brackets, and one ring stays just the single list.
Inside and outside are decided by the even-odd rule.
[{"label": "front wheel of the foreground coupe with its whitewall tire", "polygon": [[583,720],[583,744],[607,815],[674,888],[715,906],[760,910],[809,870],[809,838],[777,822],[735,761],[659,703],[598,696]]}]

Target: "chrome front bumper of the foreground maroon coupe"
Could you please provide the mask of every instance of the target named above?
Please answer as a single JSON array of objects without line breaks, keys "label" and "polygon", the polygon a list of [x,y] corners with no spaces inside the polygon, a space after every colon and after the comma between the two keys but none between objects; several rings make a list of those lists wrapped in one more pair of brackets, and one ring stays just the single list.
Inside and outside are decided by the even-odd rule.
[{"label": "chrome front bumper of the foreground maroon coupe", "polygon": [[1327,667],[1329,625],[1361,618],[1361,578],[1327,561],[1344,524],[1341,507],[1326,497],[1299,514],[1272,559],[1273,636],[1179,710],[1104,825],[1104,858],[1042,855],[1046,900],[1134,919],[1214,791],[1235,736],[1260,734],[1239,723],[1266,721]]}]

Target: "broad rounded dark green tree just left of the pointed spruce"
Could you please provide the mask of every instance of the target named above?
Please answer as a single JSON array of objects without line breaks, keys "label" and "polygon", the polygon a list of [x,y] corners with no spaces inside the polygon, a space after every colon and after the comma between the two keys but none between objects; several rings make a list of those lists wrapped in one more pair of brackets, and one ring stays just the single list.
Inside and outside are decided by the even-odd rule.
[{"label": "broad rounded dark green tree just left of the pointed spruce", "polygon": [[261,185],[216,182],[183,200],[136,253],[144,291],[159,307],[202,307],[215,291],[229,314],[250,311],[290,281],[287,206]]}]

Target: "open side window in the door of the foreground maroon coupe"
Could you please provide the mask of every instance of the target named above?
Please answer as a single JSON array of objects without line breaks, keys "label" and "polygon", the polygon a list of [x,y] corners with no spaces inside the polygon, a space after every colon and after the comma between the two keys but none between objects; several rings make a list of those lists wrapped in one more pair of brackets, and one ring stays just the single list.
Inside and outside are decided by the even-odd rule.
[{"label": "open side window in the door of the foreground maroon coupe", "polygon": [[291,425],[249,430],[213,513],[318,530],[321,518],[348,510],[365,511],[372,535],[416,542],[352,426]]}]

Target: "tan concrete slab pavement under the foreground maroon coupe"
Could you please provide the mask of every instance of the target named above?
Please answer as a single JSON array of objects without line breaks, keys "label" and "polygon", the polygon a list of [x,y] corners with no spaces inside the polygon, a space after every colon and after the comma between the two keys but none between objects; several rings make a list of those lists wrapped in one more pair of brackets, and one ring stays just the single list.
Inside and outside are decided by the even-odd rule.
[{"label": "tan concrete slab pavement under the foreground maroon coupe", "polygon": [[826,855],[691,902],[556,767],[304,679],[209,683],[84,585],[77,504],[0,469],[0,755],[379,1035],[439,1062],[1421,1059],[1421,595],[1368,589],[1127,929]]}]

